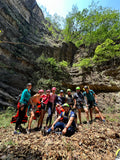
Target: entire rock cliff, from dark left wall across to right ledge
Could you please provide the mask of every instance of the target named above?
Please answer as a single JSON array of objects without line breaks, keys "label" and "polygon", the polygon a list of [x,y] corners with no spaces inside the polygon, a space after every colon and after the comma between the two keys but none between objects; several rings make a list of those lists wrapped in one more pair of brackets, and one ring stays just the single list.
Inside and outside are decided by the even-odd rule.
[{"label": "entire rock cliff, from dark left wall across to right ledge", "polygon": [[82,88],[87,84],[98,93],[120,91],[120,59],[115,64],[111,60],[87,69],[61,69],[62,73],[56,72],[51,77],[48,72],[52,72],[52,68],[46,75],[46,70],[43,70],[45,64],[36,63],[41,55],[54,57],[56,61],[68,61],[70,66],[80,57],[88,56],[84,47],[78,49],[73,43],[58,41],[52,35],[36,0],[1,0],[0,106],[14,105],[15,97],[26,83],[31,81],[36,88],[41,78],[43,81],[51,78],[60,80],[64,87],[73,90],[78,85]]}]

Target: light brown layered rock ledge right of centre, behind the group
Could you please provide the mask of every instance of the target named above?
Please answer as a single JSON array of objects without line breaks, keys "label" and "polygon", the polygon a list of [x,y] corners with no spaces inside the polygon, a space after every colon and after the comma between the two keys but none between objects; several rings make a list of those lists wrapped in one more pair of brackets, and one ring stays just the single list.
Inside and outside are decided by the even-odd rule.
[{"label": "light brown layered rock ledge right of centre, behind the group", "polygon": [[[80,58],[88,57],[88,50],[83,46],[80,47],[74,55],[73,63],[79,63]],[[71,67],[70,75],[72,78],[71,86],[89,85],[96,92],[115,92],[120,91],[120,58],[111,59],[102,65],[88,68]]]}]

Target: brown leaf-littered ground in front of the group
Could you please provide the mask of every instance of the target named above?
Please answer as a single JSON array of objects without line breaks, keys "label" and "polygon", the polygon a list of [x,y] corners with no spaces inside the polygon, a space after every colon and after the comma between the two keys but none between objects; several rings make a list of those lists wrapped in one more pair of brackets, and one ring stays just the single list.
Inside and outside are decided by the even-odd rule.
[{"label": "brown leaf-littered ground in front of the group", "polygon": [[80,125],[72,137],[43,136],[41,131],[13,135],[13,125],[1,127],[0,159],[114,160],[120,149],[120,115],[109,117],[118,121]]}]

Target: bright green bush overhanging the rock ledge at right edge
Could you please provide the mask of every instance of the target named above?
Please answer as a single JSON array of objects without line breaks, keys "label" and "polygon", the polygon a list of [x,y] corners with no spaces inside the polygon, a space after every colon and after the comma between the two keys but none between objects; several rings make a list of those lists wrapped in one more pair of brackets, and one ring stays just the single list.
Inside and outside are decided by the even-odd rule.
[{"label": "bright green bush overhanging the rock ledge at right edge", "polygon": [[[79,63],[73,66],[80,68],[87,68],[94,64],[101,64],[102,62],[114,60],[115,57],[120,57],[120,44],[115,44],[111,39],[106,39],[104,43],[98,45],[95,49],[95,54],[92,58],[80,59]],[[114,83],[111,84],[114,85]]]}]

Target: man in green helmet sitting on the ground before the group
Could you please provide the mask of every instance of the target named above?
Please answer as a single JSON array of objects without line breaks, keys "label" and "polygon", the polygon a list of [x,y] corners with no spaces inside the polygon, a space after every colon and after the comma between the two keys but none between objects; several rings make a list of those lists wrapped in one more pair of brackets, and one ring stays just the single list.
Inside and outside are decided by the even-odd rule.
[{"label": "man in green helmet sitting on the ground before the group", "polygon": [[51,128],[48,130],[43,130],[43,135],[49,134],[51,131],[56,128],[61,129],[63,135],[71,136],[75,133],[76,124],[75,124],[75,113],[70,110],[70,106],[67,103],[63,104],[64,112],[62,112],[59,117],[52,124]]}]

